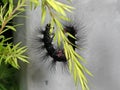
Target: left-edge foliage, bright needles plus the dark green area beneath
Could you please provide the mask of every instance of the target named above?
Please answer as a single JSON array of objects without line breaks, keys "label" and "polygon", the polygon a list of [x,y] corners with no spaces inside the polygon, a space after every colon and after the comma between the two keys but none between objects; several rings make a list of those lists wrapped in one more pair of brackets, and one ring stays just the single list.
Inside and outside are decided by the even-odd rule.
[{"label": "left-edge foliage, bright needles plus the dark green area beneath", "polygon": [[[20,24],[13,23],[13,19],[25,11],[26,0],[0,1],[0,90],[18,90],[16,72],[20,68],[19,61],[28,63],[28,57],[24,54],[26,46],[21,43],[9,42],[5,34],[8,30],[17,31]],[[10,33],[9,33],[10,34]],[[13,79],[14,78],[14,79]]]}]

